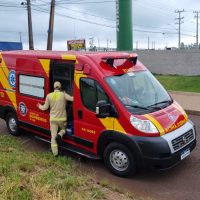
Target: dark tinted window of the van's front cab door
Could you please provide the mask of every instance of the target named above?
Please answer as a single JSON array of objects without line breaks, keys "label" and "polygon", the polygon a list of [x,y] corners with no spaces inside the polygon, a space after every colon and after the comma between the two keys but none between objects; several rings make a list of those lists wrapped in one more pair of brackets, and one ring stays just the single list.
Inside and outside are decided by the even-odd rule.
[{"label": "dark tinted window of the van's front cab door", "polygon": [[93,112],[96,110],[97,101],[106,100],[108,102],[108,96],[93,79],[82,78],[80,80],[80,89],[84,106]]}]

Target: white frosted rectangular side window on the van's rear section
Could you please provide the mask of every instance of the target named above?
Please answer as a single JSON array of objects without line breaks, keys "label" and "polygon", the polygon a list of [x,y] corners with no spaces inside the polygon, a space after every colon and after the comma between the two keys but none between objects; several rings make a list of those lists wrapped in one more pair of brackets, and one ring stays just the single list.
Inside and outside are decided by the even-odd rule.
[{"label": "white frosted rectangular side window on the van's rear section", "polygon": [[45,80],[43,77],[19,75],[19,92],[38,98],[44,98]]}]

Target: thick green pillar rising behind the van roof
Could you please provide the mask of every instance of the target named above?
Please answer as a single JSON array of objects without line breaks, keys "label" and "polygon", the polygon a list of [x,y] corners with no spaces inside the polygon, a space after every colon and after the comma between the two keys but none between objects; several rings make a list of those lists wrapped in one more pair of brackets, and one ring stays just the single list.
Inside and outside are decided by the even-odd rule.
[{"label": "thick green pillar rising behind the van roof", "polygon": [[117,50],[133,50],[132,0],[116,0]]}]

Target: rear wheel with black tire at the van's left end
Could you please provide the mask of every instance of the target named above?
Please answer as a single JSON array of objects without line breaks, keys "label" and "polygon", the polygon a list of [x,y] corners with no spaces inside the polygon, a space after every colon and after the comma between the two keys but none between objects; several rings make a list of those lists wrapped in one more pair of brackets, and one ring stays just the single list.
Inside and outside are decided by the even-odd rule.
[{"label": "rear wheel with black tire at the van's left end", "polygon": [[15,113],[11,112],[6,115],[6,125],[11,135],[14,136],[20,135],[19,123]]}]

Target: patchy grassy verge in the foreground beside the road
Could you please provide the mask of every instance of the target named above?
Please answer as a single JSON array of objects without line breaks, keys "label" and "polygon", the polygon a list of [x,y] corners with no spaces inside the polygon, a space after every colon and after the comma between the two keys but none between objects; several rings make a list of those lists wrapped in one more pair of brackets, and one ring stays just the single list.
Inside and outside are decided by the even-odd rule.
[{"label": "patchy grassy verge in the foreground beside the road", "polygon": [[72,159],[26,151],[20,140],[0,135],[0,199],[135,199],[78,170]]}]

